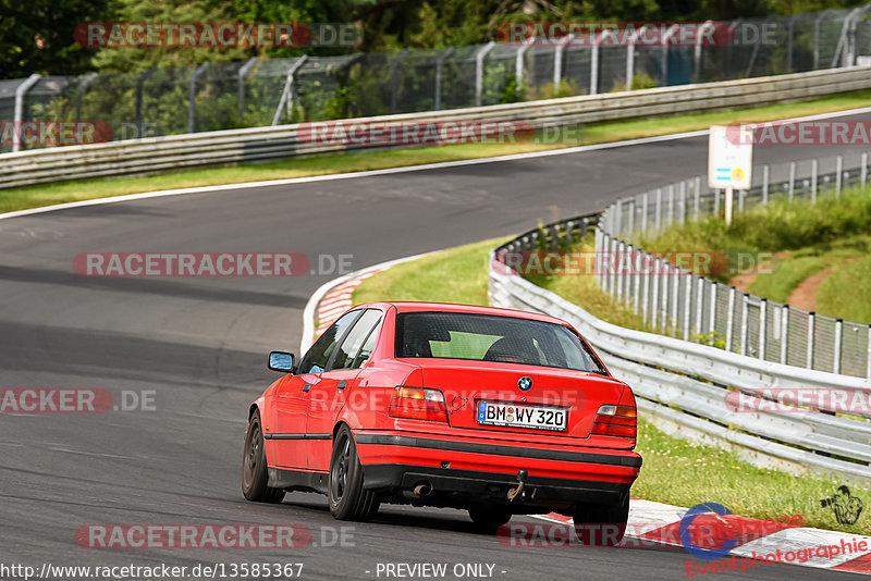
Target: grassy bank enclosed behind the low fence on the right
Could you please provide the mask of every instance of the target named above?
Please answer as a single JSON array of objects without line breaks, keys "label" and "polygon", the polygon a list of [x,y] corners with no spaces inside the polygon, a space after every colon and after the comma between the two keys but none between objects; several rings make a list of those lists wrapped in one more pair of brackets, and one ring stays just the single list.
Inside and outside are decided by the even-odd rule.
[{"label": "grassy bank enclosed behind the low fence on the right", "polygon": [[[809,276],[834,267],[817,293],[817,312],[871,322],[866,297],[844,292],[867,287],[871,282],[871,268],[866,260],[871,256],[869,233],[871,188],[851,188],[839,198],[827,194],[815,203],[776,199],[736,214],[729,227],[721,217],[709,217],[638,242],[650,251],[703,249],[733,258],[751,256],[751,262],[759,267],[764,265],[769,254],[777,254],[771,268],[756,275],[749,290],[778,302],[787,302],[792,292]],[[729,283],[739,273],[729,265],[722,272],[699,274]]]}]

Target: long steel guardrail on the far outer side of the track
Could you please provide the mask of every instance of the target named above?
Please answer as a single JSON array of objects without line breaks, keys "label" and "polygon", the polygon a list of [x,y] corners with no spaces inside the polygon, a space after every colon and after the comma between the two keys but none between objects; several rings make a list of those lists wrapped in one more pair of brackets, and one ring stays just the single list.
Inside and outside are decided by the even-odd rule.
[{"label": "long steel guardrail on the far outer side of the track", "polygon": [[[871,70],[851,66],[743,81],[568,97],[355,120],[366,124],[412,121],[517,121],[540,128],[697,113],[808,100],[871,88]],[[64,180],[131,176],[293,156],[383,149],[383,145],[317,144],[309,125],[228,129],[0,154],[0,188]]]}]

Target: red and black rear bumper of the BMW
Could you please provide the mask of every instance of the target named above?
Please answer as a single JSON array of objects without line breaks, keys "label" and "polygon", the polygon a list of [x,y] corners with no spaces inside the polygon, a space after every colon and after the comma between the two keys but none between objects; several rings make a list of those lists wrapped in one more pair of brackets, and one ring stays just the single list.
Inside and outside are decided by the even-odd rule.
[{"label": "red and black rear bumper of the BMW", "polygon": [[629,492],[641,457],[628,450],[578,446],[530,447],[491,438],[427,437],[422,434],[355,432],[369,490],[412,490],[429,483],[436,496],[505,502],[528,472],[528,503],[566,506],[616,504]]}]

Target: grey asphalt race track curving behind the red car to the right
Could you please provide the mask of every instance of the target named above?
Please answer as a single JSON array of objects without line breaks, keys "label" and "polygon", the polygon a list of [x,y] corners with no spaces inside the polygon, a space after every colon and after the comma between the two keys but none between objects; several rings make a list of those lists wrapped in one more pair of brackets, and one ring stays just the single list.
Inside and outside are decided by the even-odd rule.
[{"label": "grey asphalt race track curving behind the red car to the right", "polygon": [[[834,153],[769,147],[756,158]],[[695,137],[0,220],[0,387],[103,388],[115,404],[123,391],[156,392],[154,411],[0,416],[0,563],[303,563],[303,579],[385,579],[376,574],[379,563],[446,563],[444,579],[454,579],[451,567],[471,563],[494,565],[493,578],[505,580],[683,578],[683,548],[512,548],[476,534],[454,510],[385,506],[375,522],[348,524],[316,495],[290,494],[280,506],[245,502],[246,409],[277,379],[267,351],[297,349],[303,307],[333,276],[83,277],[72,262],[88,251],[295,251],[353,255],[359,269],[593,211],[701,174],[706,163],[707,137]],[[75,533],[88,523],[299,524],[315,543],[83,548]],[[340,527],[352,527],[348,546],[324,546]],[[716,577],[843,574],[772,565]]]}]

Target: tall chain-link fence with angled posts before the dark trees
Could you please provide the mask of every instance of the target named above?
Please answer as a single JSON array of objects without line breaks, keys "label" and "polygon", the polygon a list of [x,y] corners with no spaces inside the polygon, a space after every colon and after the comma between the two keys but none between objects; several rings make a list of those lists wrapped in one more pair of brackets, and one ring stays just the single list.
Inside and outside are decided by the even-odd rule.
[{"label": "tall chain-link fence with angled posts before the dark trees", "polygon": [[668,29],[652,45],[640,35],[606,42],[600,34],[584,44],[566,36],[0,81],[0,152],[60,145],[22,138],[28,122],[100,122],[111,126],[112,139],[130,139],[871,64],[869,10],[738,20],[728,23],[725,41],[692,46]]}]

